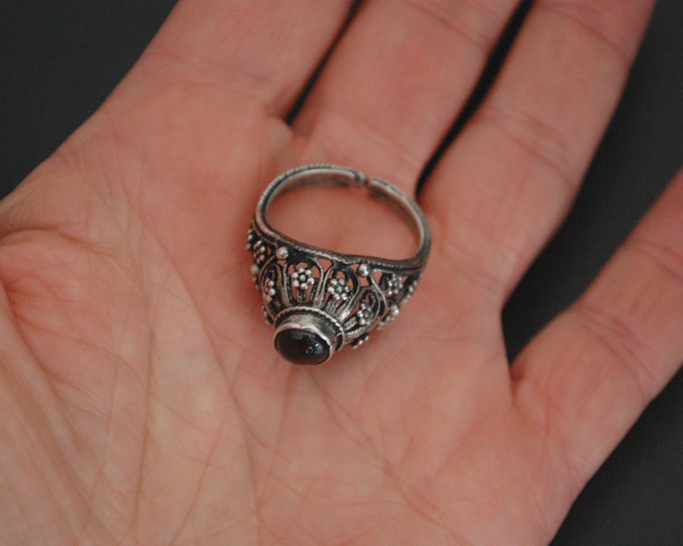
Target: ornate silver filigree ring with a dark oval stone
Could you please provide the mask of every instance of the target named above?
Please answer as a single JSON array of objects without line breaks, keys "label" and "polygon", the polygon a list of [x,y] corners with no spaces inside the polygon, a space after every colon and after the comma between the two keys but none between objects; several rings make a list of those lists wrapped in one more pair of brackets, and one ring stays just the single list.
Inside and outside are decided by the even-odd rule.
[{"label": "ornate silver filigree ring with a dark oval stone", "polygon": [[[370,197],[401,214],[418,240],[417,252],[404,260],[335,253],[270,227],[270,204],[303,186],[366,188]],[[275,325],[275,349],[294,364],[322,364],[347,345],[358,347],[370,330],[398,315],[427,262],[430,229],[417,203],[395,186],[346,167],[306,165],[283,173],[263,192],[247,250],[253,255],[251,275],[263,296],[264,317]]]}]

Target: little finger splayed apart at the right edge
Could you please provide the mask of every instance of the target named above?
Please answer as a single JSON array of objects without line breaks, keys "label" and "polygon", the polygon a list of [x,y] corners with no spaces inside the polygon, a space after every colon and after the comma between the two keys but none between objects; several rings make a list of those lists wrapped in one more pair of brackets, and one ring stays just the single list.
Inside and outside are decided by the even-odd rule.
[{"label": "little finger splayed apart at the right edge", "polygon": [[682,362],[683,172],[522,351],[515,403],[582,487]]}]

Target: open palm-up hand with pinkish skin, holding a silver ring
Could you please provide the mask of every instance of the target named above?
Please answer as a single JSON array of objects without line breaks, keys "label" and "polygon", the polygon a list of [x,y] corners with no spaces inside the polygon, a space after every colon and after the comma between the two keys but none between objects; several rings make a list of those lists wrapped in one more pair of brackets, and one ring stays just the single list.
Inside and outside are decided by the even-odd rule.
[{"label": "open palm-up hand with pinkish skin, holding a silver ring", "polygon": [[362,349],[277,356],[244,251],[260,192],[296,164],[414,192],[514,7],[363,3],[289,126],[349,2],[180,1],[0,203],[0,543],[550,542],[683,360],[682,176],[515,362],[501,332],[650,1],[535,3],[419,196],[419,288]]}]

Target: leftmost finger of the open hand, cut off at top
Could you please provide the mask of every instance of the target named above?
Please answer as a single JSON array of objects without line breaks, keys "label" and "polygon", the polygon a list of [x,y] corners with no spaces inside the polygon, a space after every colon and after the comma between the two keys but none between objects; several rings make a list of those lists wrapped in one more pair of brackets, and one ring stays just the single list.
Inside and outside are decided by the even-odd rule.
[{"label": "leftmost finger of the open hand, cut off at top", "polygon": [[[344,24],[351,0],[184,0],[141,59],[169,81],[230,87],[286,115]],[[140,71],[140,70],[139,70]]]}]

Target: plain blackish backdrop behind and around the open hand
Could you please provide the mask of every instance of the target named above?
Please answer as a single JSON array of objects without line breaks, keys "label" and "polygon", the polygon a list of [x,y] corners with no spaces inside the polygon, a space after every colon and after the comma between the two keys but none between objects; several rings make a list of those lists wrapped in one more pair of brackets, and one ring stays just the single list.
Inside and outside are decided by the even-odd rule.
[{"label": "plain blackish backdrop behind and around the open hand", "polygon": [[[173,4],[0,1],[0,197],[97,109]],[[503,311],[510,356],[579,296],[682,166],[683,1],[661,0],[574,209]],[[553,541],[565,545],[683,545],[683,373],[576,500]]]}]

